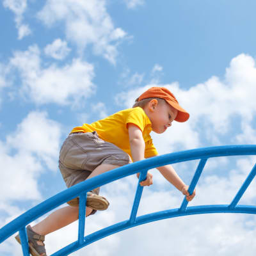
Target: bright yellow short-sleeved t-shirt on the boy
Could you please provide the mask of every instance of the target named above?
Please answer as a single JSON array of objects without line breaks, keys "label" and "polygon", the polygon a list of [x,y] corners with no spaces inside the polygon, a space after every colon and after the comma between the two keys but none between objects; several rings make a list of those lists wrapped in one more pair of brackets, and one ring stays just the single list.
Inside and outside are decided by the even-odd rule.
[{"label": "bright yellow short-sleeved t-shirt on the boy", "polygon": [[74,128],[71,133],[97,131],[100,139],[115,144],[131,156],[127,129],[129,123],[135,124],[141,129],[145,141],[145,158],[157,156],[157,150],[150,136],[151,122],[140,107],[124,109],[92,124],[83,124],[83,126]]}]

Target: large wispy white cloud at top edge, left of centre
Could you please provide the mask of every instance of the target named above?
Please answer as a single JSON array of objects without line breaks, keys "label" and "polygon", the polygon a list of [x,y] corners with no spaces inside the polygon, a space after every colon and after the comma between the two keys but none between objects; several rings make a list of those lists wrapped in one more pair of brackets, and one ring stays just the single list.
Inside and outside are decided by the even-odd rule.
[{"label": "large wispy white cloud at top edge, left of centre", "polygon": [[106,1],[47,0],[38,18],[49,27],[65,22],[67,40],[77,44],[79,51],[92,44],[94,54],[115,64],[118,42],[126,33],[113,25]]}]

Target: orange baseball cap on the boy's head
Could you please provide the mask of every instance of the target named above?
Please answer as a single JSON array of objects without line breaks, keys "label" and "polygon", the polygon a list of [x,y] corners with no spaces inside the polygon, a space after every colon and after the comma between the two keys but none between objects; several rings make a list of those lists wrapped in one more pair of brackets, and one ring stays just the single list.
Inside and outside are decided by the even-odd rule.
[{"label": "orange baseball cap on the boy's head", "polygon": [[175,96],[164,87],[151,87],[146,92],[143,92],[138,101],[147,99],[147,98],[160,98],[166,100],[173,108],[178,110],[178,114],[175,118],[177,122],[186,122],[189,118],[189,113],[180,107],[178,100]]}]

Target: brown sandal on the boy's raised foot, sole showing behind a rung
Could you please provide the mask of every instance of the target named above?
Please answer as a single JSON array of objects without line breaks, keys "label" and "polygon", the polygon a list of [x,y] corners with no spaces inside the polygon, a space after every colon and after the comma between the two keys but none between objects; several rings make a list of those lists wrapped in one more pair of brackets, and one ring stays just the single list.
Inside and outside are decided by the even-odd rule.
[{"label": "brown sandal on the boy's raised foot, sole showing behind a rung", "polygon": [[[79,206],[79,197],[76,197],[67,202],[71,206]],[[96,195],[95,193],[88,192],[86,206],[92,208],[93,210],[103,211],[108,209],[109,202],[103,196]]]}]

